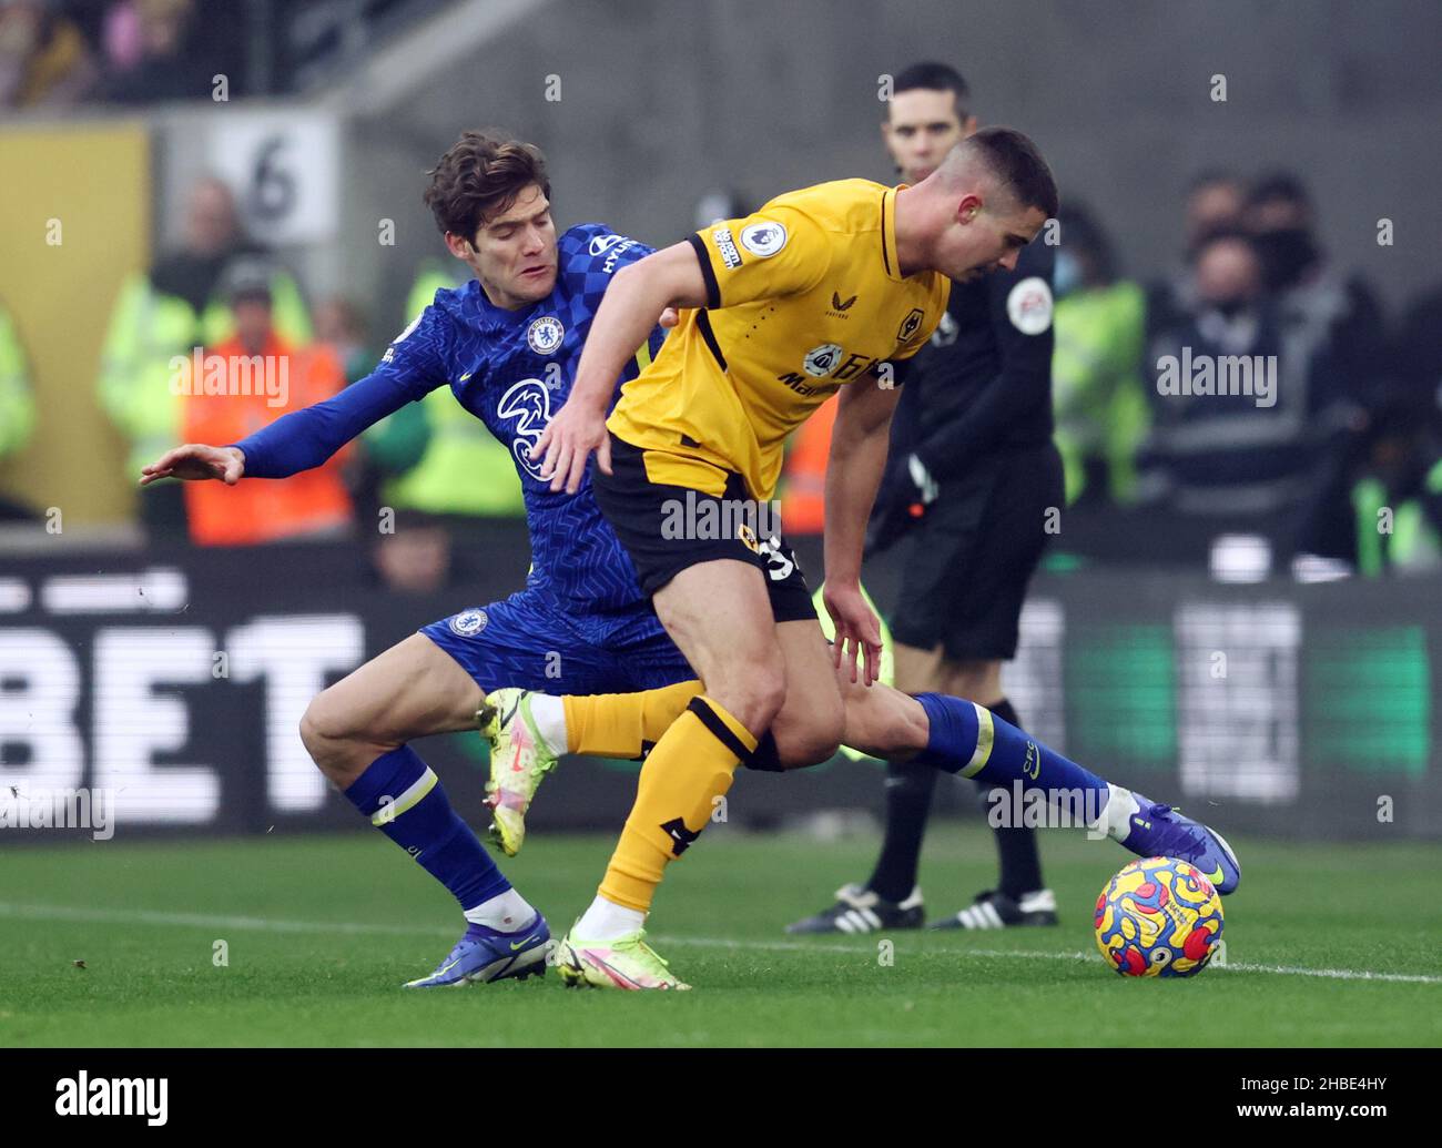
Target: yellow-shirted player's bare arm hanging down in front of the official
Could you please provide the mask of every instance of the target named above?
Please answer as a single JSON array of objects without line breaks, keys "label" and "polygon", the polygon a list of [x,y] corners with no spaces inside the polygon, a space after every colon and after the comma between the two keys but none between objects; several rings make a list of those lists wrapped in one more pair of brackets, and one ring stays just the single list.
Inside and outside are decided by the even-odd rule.
[{"label": "yellow-shirted player's bare arm hanging down in front of the official", "polygon": [[842,387],[826,459],[826,587],[822,600],[836,623],[836,665],[849,655],[851,681],[855,682],[857,655],[864,653],[867,685],[877,681],[881,668],[881,622],[861,593],[861,551],[887,464],[891,415],[900,394],[898,388],[881,387],[875,378]]}]

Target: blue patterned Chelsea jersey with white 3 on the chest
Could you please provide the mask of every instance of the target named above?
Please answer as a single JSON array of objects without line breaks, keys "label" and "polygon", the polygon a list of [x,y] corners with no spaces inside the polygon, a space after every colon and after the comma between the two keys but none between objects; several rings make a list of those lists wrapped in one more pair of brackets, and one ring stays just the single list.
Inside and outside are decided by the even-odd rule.
[{"label": "blue patterned Chelsea jersey with white 3 on the chest", "polygon": [[[448,384],[457,401],[510,449],[531,531],[526,584],[583,613],[643,603],[636,570],[596,505],[590,473],[575,495],[552,493],[529,450],[571,394],[606,287],[620,267],[650,251],[600,224],[580,224],[557,244],[549,296],[512,312],[492,304],[476,280],[440,290],[373,372],[392,376],[414,398]],[[652,332],[617,379],[617,391],[659,350],[662,337],[660,327]]]}]

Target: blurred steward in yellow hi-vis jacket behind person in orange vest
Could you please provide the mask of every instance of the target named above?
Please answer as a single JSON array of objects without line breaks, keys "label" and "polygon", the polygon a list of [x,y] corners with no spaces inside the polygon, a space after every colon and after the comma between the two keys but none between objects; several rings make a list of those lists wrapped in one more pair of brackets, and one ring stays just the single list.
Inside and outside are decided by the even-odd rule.
[{"label": "blurred steward in yellow hi-vis jacket behind person in orange vest", "polygon": [[[162,255],[149,273],[125,278],[115,300],[101,356],[101,405],[130,444],[127,474],[159,459],[180,440],[180,398],[170,391],[172,359],[196,346],[215,346],[235,330],[235,317],[216,284],[226,265],[262,254],[239,231],[231,192],[202,179],[186,203],[185,245]],[[309,342],[310,320],[294,280],[274,270],[275,329],[293,345]],[[141,518],[153,534],[182,534],[180,483],[154,483],[141,492]]]}]

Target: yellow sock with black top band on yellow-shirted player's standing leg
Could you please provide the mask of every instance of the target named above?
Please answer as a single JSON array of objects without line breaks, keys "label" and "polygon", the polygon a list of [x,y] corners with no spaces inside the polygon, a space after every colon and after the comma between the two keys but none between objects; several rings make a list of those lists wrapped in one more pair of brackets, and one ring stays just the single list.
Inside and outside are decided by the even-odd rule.
[{"label": "yellow sock with black top band on yellow-shirted player's standing leg", "polygon": [[650,910],[656,886],[672,858],[707,828],[715,799],[725,796],[741,757],[756,737],[704,694],[662,734],[640,770],[636,803],[606,868],[606,900]]}]

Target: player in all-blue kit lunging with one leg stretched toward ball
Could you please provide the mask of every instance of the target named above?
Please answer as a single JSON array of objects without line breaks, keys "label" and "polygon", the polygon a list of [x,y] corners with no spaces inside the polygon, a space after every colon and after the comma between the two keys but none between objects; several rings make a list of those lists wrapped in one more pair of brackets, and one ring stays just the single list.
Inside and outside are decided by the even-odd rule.
[{"label": "player in all-blue kit lunging with one leg stretched toward ball", "polygon": [[[636,705],[652,707],[640,725],[663,725],[671,711],[685,708],[696,692],[695,674],[656,620],[629,555],[596,505],[588,476],[574,493],[552,492],[539,477],[541,463],[531,457],[570,392],[603,293],[619,268],[642,260],[650,248],[594,224],[574,226],[557,239],[544,160],[534,147],[496,136],[466,133],[431,173],[425,199],[448,250],[470,267],[474,280],[438,291],[376,369],[340,395],[287,414],[235,444],[177,447],[144,467],[141,476],[143,485],[163,477],[228,485],[242,476],[286,477],[319,466],[366,427],[441,385],[510,447],[531,532],[526,588],[424,626],[322,692],[300,728],[322,772],[444,884],[466,916],[466,933],[450,955],[434,973],[410,986],[541,972],[549,930],[490,861],[408,743],[474,730],[477,711],[485,708],[492,725],[508,727],[509,747],[518,740],[512,734],[525,733],[529,702],[551,702],[555,695],[633,694]],[[653,329],[617,378],[617,388],[649,362],[660,337]],[[780,545],[779,539],[771,542]],[[802,581],[783,549],[776,554],[771,577]],[[503,707],[502,720],[486,702],[496,691],[497,704],[519,697],[525,705]],[[885,686],[845,692],[848,744],[877,756],[921,753],[939,769],[968,776],[986,767],[1007,779],[1025,773],[1030,785],[1043,787],[1132,798],[1028,741],[1019,730],[991,723],[982,728],[982,714],[969,702],[933,697],[923,708]],[[564,734],[564,723],[561,730]],[[979,751],[982,741],[985,754]],[[557,746],[551,738],[552,749],[597,751],[584,743],[572,738]],[[538,751],[532,741],[523,759],[513,764],[518,774],[528,774],[529,796],[539,774],[554,764],[554,754]],[[505,789],[493,790],[503,802]],[[1115,812],[1107,834],[1128,848],[1194,860],[1218,877],[1224,870],[1224,891],[1234,887],[1234,857],[1204,826],[1169,818],[1145,799],[1126,800],[1125,808],[1116,800],[1106,805]],[[1135,811],[1146,812],[1151,822],[1138,819],[1133,826],[1128,813]],[[496,812],[512,812],[523,832],[523,805],[506,811],[499,803]],[[649,950],[636,948],[645,972]],[[617,959],[627,963],[626,953]],[[663,969],[656,972],[659,984],[639,976],[630,986],[660,988],[673,979]]]}]

